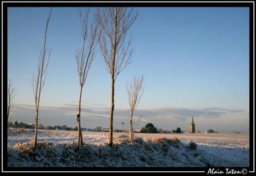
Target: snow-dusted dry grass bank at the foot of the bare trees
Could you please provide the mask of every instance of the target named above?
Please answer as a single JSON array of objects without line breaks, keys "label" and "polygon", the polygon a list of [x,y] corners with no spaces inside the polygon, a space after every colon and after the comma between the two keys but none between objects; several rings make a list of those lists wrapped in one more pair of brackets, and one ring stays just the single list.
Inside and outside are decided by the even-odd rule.
[{"label": "snow-dusted dry grass bank at the foot of the bare trees", "polygon": [[[8,165],[36,167],[169,167],[186,152],[178,138],[135,138],[130,144],[125,136],[115,138],[112,148],[108,143],[84,143],[76,150],[76,143],[37,142],[18,143],[8,151]],[[193,152],[189,153],[197,160]],[[188,155],[189,155],[188,154]],[[199,160],[199,159],[198,159]],[[135,162],[134,162],[135,161]]]}]

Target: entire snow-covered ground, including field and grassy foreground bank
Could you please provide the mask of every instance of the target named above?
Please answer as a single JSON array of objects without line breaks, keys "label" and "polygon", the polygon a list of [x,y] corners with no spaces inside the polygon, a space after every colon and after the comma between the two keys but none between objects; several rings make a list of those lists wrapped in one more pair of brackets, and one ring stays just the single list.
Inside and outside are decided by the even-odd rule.
[{"label": "entire snow-covered ground, including field and grassy foreground bank", "polygon": [[[135,134],[83,131],[84,147],[75,151],[77,131],[38,131],[32,150],[32,129],[8,131],[9,167],[249,167],[249,134]],[[196,149],[189,142],[197,144]]]}]

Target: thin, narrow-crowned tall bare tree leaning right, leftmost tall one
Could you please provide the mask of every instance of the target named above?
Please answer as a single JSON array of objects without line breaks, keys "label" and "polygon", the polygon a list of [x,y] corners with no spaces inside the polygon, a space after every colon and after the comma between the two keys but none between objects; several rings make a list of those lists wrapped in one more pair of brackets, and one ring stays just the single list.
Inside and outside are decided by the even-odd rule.
[{"label": "thin, narrow-crowned tall bare tree leaning right, leftmost tall one", "polygon": [[[36,148],[36,143],[37,143],[37,122],[38,122],[38,112],[39,112],[39,103],[40,103],[40,97],[41,97],[41,92],[45,84],[46,80],[46,69],[49,63],[49,58],[50,58],[50,53],[51,51],[47,49],[46,47],[46,36],[47,36],[47,30],[48,30],[48,25],[51,17],[51,12],[52,8],[50,11],[50,14],[46,20],[46,28],[45,28],[45,39],[44,39],[44,45],[41,50],[41,53],[39,55],[38,63],[37,63],[37,74],[36,76],[33,73],[33,78],[32,78],[32,87],[33,87],[33,93],[34,93],[34,98],[35,98],[35,139],[34,139],[34,149]],[[46,61],[46,54],[48,50],[48,59]]]}]

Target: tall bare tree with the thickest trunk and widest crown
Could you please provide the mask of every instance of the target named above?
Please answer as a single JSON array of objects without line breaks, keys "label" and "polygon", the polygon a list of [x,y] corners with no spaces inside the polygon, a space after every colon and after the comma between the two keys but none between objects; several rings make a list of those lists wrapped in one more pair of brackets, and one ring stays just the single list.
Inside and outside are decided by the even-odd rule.
[{"label": "tall bare tree with the thickest trunk and widest crown", "polygon": [[127,7],[109,7],[98,10],[101,26],[100,47],[106,67],[111,75],[111,104],[109,115],[109,146],[113,145],[114,82],[131,63],[131,37],[126,41],[127,31],[134,23],[139,10]]}]

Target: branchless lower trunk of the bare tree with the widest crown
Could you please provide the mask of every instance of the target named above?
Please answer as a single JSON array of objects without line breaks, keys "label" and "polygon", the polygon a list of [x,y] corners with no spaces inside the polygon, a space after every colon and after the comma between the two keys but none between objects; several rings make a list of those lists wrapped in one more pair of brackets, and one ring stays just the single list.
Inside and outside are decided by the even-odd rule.
[{"label": "branchless lower trunk of the bare tree with the widest crown", "polygon": [[114,78],[111,81],[111,105],[110,105],[110,116],[109,116],[109,146],[113,146],[113,113],[114,113]]}]

